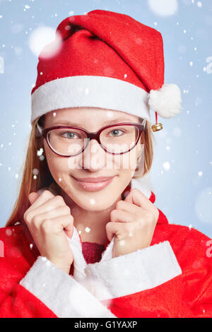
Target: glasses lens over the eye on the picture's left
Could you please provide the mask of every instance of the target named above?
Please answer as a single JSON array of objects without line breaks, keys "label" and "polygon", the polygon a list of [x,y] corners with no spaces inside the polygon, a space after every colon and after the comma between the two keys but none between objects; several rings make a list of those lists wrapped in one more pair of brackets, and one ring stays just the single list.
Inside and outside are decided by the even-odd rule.
[{"label": "glasses lens over the eye on the picture's left", "polygon": [[86,146],[86,134],[79,129],[53,129],[47,134],[52,149],[60,155],[76,155]]}]

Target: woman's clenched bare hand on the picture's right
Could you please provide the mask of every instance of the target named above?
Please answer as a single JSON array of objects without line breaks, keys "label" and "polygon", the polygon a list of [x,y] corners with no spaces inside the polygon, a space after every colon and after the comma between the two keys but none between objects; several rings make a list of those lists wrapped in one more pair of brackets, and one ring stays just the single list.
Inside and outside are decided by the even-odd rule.
[{"label": "woman's clenched bare hand on the picture's right", "polygon": [[109,241],[114,237],[112,257],[150,246],[158,216],[158,208],[139,189],[132,189],[124,201],[118,201],[106,225]]}]

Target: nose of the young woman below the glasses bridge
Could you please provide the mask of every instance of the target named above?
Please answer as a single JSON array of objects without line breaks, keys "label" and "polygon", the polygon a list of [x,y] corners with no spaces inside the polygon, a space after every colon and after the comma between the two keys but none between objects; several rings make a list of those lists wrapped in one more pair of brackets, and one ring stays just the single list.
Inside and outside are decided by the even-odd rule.
[{"label": "nose of the young woman below the glasses bridge", "polygon": [[105,167],[106,152],[95,139],[91,139],[83,151],[80,160],[81,168],[96,172]]}]

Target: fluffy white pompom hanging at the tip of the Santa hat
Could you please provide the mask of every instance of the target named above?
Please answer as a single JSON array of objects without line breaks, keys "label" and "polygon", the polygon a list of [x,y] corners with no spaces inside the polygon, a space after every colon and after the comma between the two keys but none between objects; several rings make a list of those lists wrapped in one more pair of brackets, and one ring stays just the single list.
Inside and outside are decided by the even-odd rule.
[{"label": "fluffy white pompom hanging at the tip of the Santa hat", "polygon": [[151,90],[148,105],[160,117],[171,118],[181,112],[181,92],[176,84],[164,84],[159,90]]}]

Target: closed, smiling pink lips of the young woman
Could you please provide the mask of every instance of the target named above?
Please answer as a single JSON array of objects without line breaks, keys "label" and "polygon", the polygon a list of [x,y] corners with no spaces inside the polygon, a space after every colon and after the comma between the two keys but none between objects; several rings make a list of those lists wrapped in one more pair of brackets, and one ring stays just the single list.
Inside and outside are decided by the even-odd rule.
[{"label": "closed, smiling pink lips of the young woman", "polygon": [[78,186],[81,186],[81,188],[86,191],[100,191],[101,189],[105,188],[105,186],[108,186],[114,177],[86,177],[86,179],[76,179],[76,177],[73,177],[73,179],[75,179]]}]

